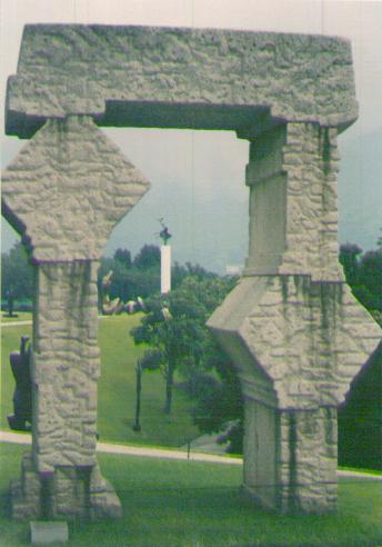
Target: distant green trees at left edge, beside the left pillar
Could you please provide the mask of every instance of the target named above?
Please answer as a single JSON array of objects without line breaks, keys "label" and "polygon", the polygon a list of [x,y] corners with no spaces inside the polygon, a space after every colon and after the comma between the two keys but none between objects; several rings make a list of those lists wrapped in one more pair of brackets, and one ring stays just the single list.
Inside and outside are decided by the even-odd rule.
[{"label": "distant green trees at left edge, beside the left pillar", "polygon": [[16,300],[30,300],[33,296],[33,267],[21,242],[9,252],[1,253],[1,298],[12,290]]}]

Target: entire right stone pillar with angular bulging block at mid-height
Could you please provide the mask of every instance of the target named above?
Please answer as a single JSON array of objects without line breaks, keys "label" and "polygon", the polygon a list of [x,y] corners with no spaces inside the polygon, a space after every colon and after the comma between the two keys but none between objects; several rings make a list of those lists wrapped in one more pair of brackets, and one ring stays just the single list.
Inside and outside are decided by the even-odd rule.
[{"label": "entire right stone pillar with angular bulging block at mid-height", "polygon": [[380,328],[338,261],[336,130],[251,142],[243,278],[209,320],[242,385],[244,489],[281,513],[336,509],[336,407]]}]

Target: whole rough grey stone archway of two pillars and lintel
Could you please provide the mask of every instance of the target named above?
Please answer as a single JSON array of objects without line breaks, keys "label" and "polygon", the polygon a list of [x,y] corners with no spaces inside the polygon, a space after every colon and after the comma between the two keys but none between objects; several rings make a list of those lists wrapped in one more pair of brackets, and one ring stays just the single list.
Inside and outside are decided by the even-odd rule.
[{"label": "whole rough grey stone archway of two pillars and lintel", "polygon": [[47,505],[51,517],[120,514],[96,459],[94,272],[148,182],[97,125],[229,129],[250,140],[247,268],[209,321],[242,382],[244,486],[282,513],[335,509],[335,408],[380,338],[336,258],[336,135],[355,118],[345,40],[26,27],[7,132],[30,141],[2,189],[3,215],[38,271],[33,446],[14,517]]}]

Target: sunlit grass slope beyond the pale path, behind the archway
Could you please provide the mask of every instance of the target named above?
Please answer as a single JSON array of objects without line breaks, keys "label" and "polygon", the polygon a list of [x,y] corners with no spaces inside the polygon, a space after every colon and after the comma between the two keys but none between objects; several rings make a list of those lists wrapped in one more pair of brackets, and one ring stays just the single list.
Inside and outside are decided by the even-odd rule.
[{"label": "sunlit grass slope beyond the pale path, behind the archway", "polygon": [[[21,316],[21,315],[20,315]],[[30,319],[22,315],[18,320]],[[2,318],[4,320],[7,318]],[[174,390],[173,412],[165,415],[164,381],[160,372],[145,371],[142,378],[141,425],[132,430],[135,411],[135,362],[143,348],[134,347],[129,335],[140,316],[108,317],[99,321],[101,378],[99,380],[98,430],[102,442],[179,447],[198,436],[192,425],[190,401]],[[0,427],[8,429],[7,415],[12,414],[14,381],[9,354],[19,348],[20,336],[31,335],[31,326],[4,327],[1,332],[1,417]]]}]

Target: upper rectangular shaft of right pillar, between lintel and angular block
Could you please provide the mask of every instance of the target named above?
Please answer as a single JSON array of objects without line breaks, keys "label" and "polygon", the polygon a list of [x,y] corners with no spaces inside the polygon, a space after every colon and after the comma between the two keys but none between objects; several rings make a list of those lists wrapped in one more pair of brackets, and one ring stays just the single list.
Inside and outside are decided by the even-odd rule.
[{"label": "upper rectangular shaft of right pillar, between lintel and angular block", "polygon": [[251,143],[247,274],[343,281],[338,261],[335,129],[288,123]]}]

